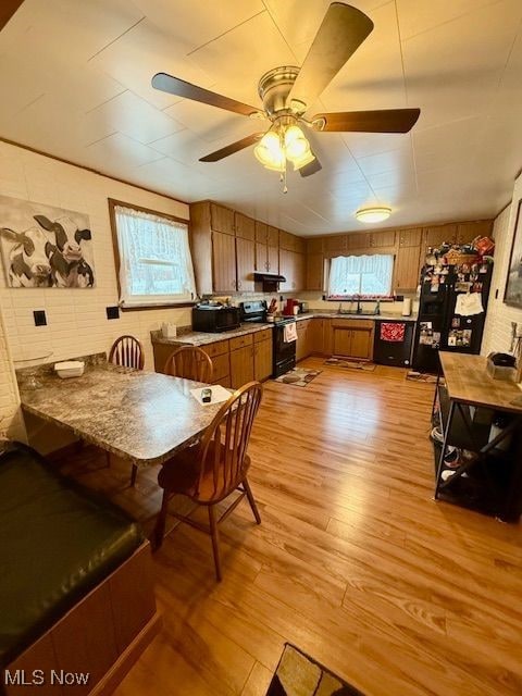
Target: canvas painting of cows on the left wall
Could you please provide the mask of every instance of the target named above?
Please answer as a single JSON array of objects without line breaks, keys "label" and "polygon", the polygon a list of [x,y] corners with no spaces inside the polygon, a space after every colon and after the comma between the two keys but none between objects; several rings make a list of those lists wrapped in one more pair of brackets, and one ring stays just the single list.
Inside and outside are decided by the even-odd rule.
[{"label": "canvas painting of cows on the left wall", "polygon": [[0,245],[8,287],[95,286],[85,213],[0,196]]}]

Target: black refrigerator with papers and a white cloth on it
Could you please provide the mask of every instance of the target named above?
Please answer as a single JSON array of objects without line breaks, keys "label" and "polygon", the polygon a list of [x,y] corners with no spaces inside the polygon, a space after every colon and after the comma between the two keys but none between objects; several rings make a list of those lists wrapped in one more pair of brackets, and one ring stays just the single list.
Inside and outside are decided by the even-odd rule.
[{"label": "black refrigerator with papers and a white cloth on it", "polygon": [[481,351],[492,273],[487,261],[422,269],[414,370],[437,373],[439,350]]}]

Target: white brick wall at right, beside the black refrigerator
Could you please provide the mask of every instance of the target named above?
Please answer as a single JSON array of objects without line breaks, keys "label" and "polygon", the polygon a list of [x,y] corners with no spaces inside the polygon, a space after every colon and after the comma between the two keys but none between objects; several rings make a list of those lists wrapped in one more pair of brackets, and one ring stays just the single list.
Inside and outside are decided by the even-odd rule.
[{"label": "white brick wall at right, beside the black refrigerator", "polygon": [[[492,351],[509,352],[511,347],[511,322],[522,324],[522,309],[504,303],[504,291],[508,277],[509,256],[513,243],[514,223],[519,200],[522,199],[522,175],[514,183],[513,198],[495,220],[495,268],[492,278],[492,291],[486,316],[486,326],[482,341],[482,355]],[[498,291],[498,297],[495,295]]]}]

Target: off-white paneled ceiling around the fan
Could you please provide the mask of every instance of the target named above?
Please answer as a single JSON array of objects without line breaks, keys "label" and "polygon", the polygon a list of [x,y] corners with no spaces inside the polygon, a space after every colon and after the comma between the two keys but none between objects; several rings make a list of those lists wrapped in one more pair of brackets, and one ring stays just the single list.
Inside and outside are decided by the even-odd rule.
[{"label": "off-white paneled ceiling around the fan", "polygon": [[312,134],[323,170],[264,170],[251,148],[198,159],[259,122],[152,89],[166,72],[259,104],[259,77],[301,64],[324,0],[25,0],[0,34],[0,135],[302,235],[495,215],[522,165],[521,0],[352,0],[375,28],[312,107],[420,107],[411,134]]}]

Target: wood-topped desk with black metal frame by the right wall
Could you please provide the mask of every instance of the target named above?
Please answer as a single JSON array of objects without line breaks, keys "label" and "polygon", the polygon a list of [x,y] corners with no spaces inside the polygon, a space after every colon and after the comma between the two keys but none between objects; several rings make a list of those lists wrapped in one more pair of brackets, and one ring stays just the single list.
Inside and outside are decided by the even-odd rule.
[{"label": "wood-topped desk with black metal frame by the right wall", "polygon": [[[439,357],[446,385],[437,381],[435,396],[444,432],[435,498],[515,522],[522,510],[522,391],[514,383],[494,380],[486,371],[486,358],[444,351]],[[480,411],[471,407],[511,417],[490,438],[490,420],[477,423]],[[508,437],[509,450],[502,451]],[[445,462],[450,445],[472,450],[474,457],[451,469]]]}]

